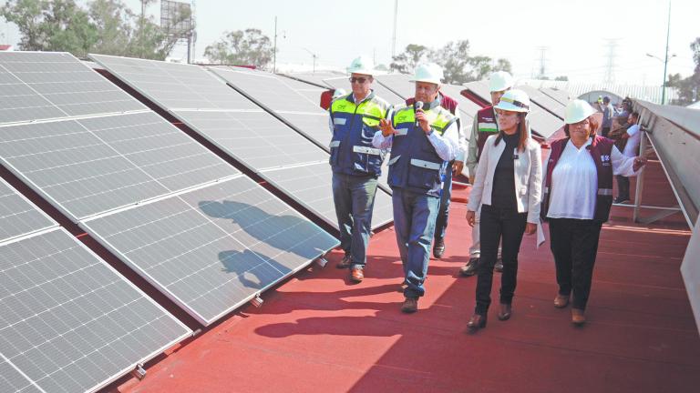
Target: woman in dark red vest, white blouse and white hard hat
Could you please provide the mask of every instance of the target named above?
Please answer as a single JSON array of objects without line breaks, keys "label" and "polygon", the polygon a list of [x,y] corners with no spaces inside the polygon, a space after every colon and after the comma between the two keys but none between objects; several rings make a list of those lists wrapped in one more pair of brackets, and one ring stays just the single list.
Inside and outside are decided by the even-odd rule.
[{"label": "woman in dark red vest, white blouse and white hard hat", "polygon": [[541,207],[542,218],[550,222],[559,284],[554,307],[566,307],[572,295],[571,323],[577,326],[586,322],[598,239],[612,206],[612,175],[636,175],[646,163],[643,157],[623,156],[611,139],[595,135],[594,113],[583,100],[566,106],[567,137],[551,144]]}]

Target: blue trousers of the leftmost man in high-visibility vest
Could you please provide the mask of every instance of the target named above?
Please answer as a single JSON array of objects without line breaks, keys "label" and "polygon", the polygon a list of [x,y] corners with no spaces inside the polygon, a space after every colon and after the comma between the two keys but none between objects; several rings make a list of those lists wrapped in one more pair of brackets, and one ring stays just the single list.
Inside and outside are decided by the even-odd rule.
[{"label": "blue trousers of the leftmost man in high-visibility vest", "polygon": [[333,200],[340,228],[340,247],[352,258],[351,268],[365,267],[372,231],[376,177],[333,174]]}]

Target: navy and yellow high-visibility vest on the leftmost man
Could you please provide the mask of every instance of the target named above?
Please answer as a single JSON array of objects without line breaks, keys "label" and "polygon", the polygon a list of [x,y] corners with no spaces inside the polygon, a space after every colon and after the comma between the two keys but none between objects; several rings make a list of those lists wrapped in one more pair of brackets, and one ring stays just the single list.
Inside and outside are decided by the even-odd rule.
[{"label": "navy and yellow high-visibility vest on the leftmost man", "polygon": [[372,146],[379,120],[386,119],[389,104],[372,92],[355,105],[353,95],[336,98],[329,109],[333,122],[330,164],[335,173],[380,176],[385,153]]}]

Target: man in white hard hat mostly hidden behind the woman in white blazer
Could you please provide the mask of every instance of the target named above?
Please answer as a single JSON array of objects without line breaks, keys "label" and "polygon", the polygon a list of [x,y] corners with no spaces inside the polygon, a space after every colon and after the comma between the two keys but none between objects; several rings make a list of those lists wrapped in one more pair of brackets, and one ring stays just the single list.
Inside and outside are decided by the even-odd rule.
[{"label": "man in white hard hat mostly hidden behind the woman in white blazer", "polygon": [[[489,77],[489,91],[491,93],[491,106],[482,108],[474,116],[474,125],[471,127],[471,137],[469,138],[467,167],[469,170],[469,183],[474,184],[474,177],[477,175],[477,165],[481,151],[489,136],[499,133],[498,114],[494,106],[499,105],[500,97],[513,86],[513,77],[505,71],[497,71]],[[527,124],[526,124],[527,126]],[[481,256],[481,243],[479,237],[479,209],[476,211],[475,225],[471,228],[471,247],[469,247],[469,260],[467,265],[459,269],[462,276],[474,276],[479,267],[479,257]],[[503,263],[499,260],[496,263],[496,271],[503,270]]]}]

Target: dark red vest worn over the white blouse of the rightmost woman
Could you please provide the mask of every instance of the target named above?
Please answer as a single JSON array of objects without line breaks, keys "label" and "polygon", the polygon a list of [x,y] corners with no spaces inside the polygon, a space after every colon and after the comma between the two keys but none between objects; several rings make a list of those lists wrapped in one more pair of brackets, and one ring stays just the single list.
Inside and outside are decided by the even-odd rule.
[{"label": "dark red vest worn over the white blouse of the rightmost woman", "polygon": [[[542,207],[540,214],[542,220],[547,219],[547,211],[550,209],[550,187],[551,174],[554,171],[554,166],[557,166],[561,153],[563,153],[569,138],[561,138],[551,143],[550,160],[547,164],[547,174],[544,178],[544,196],[542,197]],[[595,211],[593,212],[593,220],[605,222],[610,217],[610,208],[612,207],[612,146],[614,142],[602,136],[593,136],[593,142],[586,147],[591,152],[595,169],[598,172],[598,190],[595,197]],[[589,148],[590,147],[590,148]]]}]

